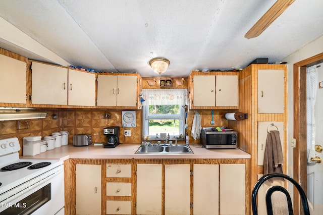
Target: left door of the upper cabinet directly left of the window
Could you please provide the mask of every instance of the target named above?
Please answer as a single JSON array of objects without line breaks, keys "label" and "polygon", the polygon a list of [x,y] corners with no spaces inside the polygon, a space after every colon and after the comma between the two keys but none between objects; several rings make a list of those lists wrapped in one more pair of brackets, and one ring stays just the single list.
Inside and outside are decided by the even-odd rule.
[{"label": "left door of the upper cabinet directly left of the window", "polygon": [[117,82],[116,75],[97,76],[97,105],[117,106]]}]

